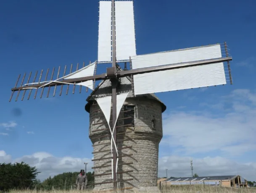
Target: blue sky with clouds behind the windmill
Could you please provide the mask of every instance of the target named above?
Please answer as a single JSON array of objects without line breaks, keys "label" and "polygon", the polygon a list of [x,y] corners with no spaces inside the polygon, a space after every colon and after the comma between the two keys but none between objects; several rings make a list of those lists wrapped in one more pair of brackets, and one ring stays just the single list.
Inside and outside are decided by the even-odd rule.
[{"label": "blue sky with clouds behind the windmill", "polygon": [[[234,171],[227,165],[234,162],[235,174],[256,180],[256,142],[251,138],[256,135],[255,6],[254,0],[134,1],[138,55],[226,41],[233,57],[232,86],[157,94],[167,106],[160,176],[166,168],[177,176],[189,175],[192,157],[199,175],[230,174]],[[61,97],[57,89],[56,96],[48,99],[40,99],[39,94],[33,99],[33,91],[29,100],[21,102],[22,94],[18,102],[8,100],[20,73],[32,71],[33,78],[36,70],[58,66],[63,70],[71,63],[76,66],[97,59],[98,0],[5,0],[0,23],[0,161],[35,157],[42,161],[44,156],[53,156],[56,162],[73,160],[74,167],[53,166],[51,171],[38,163],[44,171],[42,178],[79,170],[92,157],[85,89],[73,95],[71,87]],[[98,73],[105,69],[98,66]],[[186,170],[177,169],[183,163],[180,160]]]}]

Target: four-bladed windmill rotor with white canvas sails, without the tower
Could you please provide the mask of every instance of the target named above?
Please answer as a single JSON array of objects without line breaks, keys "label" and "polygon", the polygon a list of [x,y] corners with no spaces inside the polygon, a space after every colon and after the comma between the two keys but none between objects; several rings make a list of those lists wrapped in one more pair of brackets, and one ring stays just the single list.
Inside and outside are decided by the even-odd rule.
[{"label": "four-bladed windmill rotor with white canvas sails, without the tower", "polygon": [[[16,96],[17,101],[21,91],[23,91],[21,98],[23,100],[26,90],[29,90],[29,99],[32,89],[35,89],[35,99],[39,89],[41,89],[40,98],[42,98],[43,91],[48,89],[48,97],[52,87],[54,88],[53,96],[56,94],[57,86],[61,87],[59,94],[61,95],[64,85],[67,85],[66,94],[68,94],[70,85],[73,85],[73,94],[75,86],[80,86],[80,93],[83,86],[87,88],[87,91],[89,88],[94,92],[96,90],[95,81],[102,81],[102,83],[107,80],[110,81],[111,96],[99,97],[96,101],[107,120],[108,130],[111,133],[110,159],[112,180],[103,183],[113,183],[113,188],[116,190],[117,184],[120,182],[117,179],[118,159],[120,156],[118,155],[119,149],[116,145],[118,142],[116,123],[128,94],[132,93],[133,96],[140,96],[158,92],[224,85],[227,83],[224,62],[227,62],[228,76],[232,84],[230,71],[232,57],[228,54],[225,42],[224,44],[212,44],[182,50],[137,55],[133,1],[100,1],[99,5],[98,60],[87,66],[83,64],[81,69],[78,69],[79,65],[77,65],[74,72],[72,72],[71,65],[70,72],[67,75],[65,66],[62,77],[60,76],[59,67],[57,79],[55,80],[53,80],[55,68],[53,68],[50,80],[47,80],[49,69],[44,80],[42,80],[43,71],[41,71],[38,82],[35,82],[38,74],[36,72],[32,83],[29,83],[32,73],[29,74],[27,82],[24,83],[25,73],[21,80],[21,85],[17,87],[21,77],[19,75],[15,87],[11,89],[10,101],[14,92],[18,93]],[[222,51],[224,51],[224,55],[222,55]],[[125,63],[126,66],[127,62],[130,63],[130,69],[120,70],[118,64]],[[111,63],[112,67],[107,68],[106,73],[96,74],[99,63]],[[117,94],[120,78],[123,77],[130,78],[132,89]],[[100,86],[101,83],[98,88]],[[110,120],[111,114],[112,120]],[[110,122],[112,122],[112,125]]]}]

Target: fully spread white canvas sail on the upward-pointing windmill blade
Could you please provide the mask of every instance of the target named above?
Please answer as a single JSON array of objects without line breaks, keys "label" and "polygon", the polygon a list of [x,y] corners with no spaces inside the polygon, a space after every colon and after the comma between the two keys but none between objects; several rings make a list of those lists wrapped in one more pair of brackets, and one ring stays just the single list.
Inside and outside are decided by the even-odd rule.
[{"label": "fully spread white canvas sail on the upward-pointing windmill blade", "polygon": [[[98,62],[111,62],[111,1],[100,1]],[[116,59],[129,60],[136,55],[133,1],[115,2]]]}]

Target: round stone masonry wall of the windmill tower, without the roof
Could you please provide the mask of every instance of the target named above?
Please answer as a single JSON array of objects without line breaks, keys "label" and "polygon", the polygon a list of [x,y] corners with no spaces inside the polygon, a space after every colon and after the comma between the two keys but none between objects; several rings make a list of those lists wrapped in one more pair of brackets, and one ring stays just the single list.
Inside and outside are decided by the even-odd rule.
[{"label": "round stone masonry wall of the windmill tower, without the roof", "polygon": [[[132,141],[124,141],[118,143],[118,148],[125,146],[132,146],[131,149],[119,150],[119,155],[133,154],[132,156],[119,158],[119,164],[133,162],[131,165],[120,165],[118,171],[129,171],[133,172],[118,174],[118,180],[125,180],[133,178],[132,181],[118,183],[119,188],[125,187],[148,187],[157,186],[157,172],[158,172],[158,145],[162,138],[162,112],[161,104],[155,100],[147,99],[144,97],[128,98],[125,104],[135,105],[134,113],[134,127],[122,127],[117,128],[117,133],[132,131],[124,135],[118,135],[117,139],[131,138]],[[92,143],[102,144],[94,147],[94,152],[110,150],[109,143],[110,137],[97,138],[98,136],[109,135],[109,131],[97,131],[104,128],[108,128],[107,124],[97,124],[106,122],[105,117],[101,111],[95,112],[100,109],[98,104],[91,105],[90,107],[90,130],[89,136]],[[119,118],[124,115],[120,113]],[[153,128],[153,116],[155,118],[155,128]],[[96,117],[96,118],[93,118]],[[111,123],[112,124],[112,123]],[[123,121],[119,121],[118,125],[123,125]],[[104,153],[94,154],[94,159],[101,159],[111,157],[111,151]],[[94,167],[102,165],[111,165],[111,159],[100,160],[94,162]],[[111,167],[96,168],[94,169],[95,175],[103,173],[111,173]],[[111,175],[103,175],[95,177],[95,183],[101,183],[104,181],[111,180]],[[95,185],[96,190],[103,190],[105,188],[113,188],[113,184],[102,184]]]}]

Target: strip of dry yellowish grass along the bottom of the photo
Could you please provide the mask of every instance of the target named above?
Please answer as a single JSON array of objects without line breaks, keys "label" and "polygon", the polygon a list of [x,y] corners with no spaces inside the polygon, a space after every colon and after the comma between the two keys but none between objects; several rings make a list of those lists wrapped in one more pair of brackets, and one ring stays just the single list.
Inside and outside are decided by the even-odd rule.
[{"label": "strip of dry yellowish grass along the bottom of the photo", "polygon": [[[53,190],[53,191],[33,191],[33,190],[24,190],[18,191],[13,190],[10,193],[92,193],[92,190],[84,190],[84,191],[65,191],[65,190]],[[102,192],[102,191],[101,191]],[[134,192],[134,193],[141,193],[139,191],[131,191],[126,190],[125,192]],[[102,192],[106,193],[106,192]],[[151,192],[152,193],[152,192]],[[256,193],[256,188],[224,188],[224,187],[214,187],[214,186],[172,186],[172,187],[163,187],[162,193]]]}]

